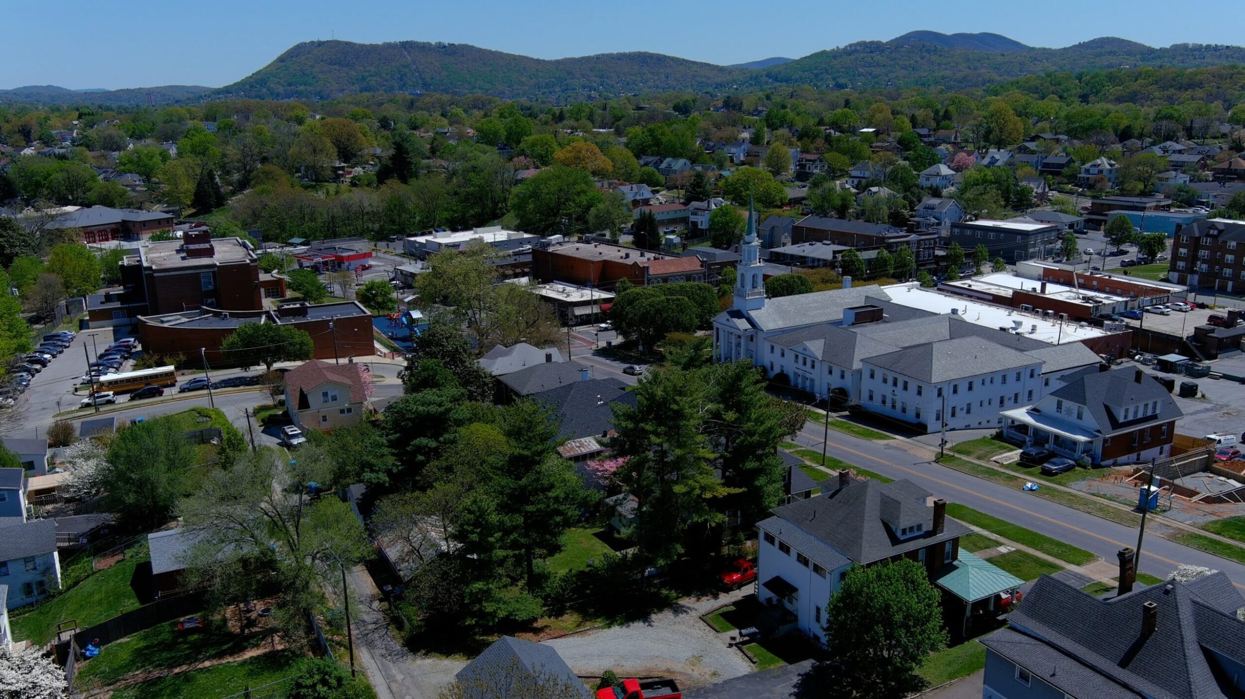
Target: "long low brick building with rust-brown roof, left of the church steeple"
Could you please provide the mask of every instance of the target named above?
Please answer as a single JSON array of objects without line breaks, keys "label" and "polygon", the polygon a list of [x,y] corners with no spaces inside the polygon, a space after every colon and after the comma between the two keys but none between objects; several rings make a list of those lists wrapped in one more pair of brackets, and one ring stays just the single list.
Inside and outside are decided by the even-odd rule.
[{"label": "long low brick building with rust-brown roof, left of the church steeple", "polygon": [[561,243],[532,250],[532,274],[543,284],[613,287],[622,279],[635,286],[705,281],[707,271],[700,257],[675,257],[609,243]]}]

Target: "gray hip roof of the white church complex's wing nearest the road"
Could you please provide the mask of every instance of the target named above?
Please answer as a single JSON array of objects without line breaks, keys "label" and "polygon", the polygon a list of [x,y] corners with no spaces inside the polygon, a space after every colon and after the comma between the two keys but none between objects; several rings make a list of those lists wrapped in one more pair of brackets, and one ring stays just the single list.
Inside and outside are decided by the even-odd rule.
[{"label": "gray hip roof of the white church complex's wing nearest the road", "polygon": [[880,354],[869,363],[924,383],[942,383],[1017,369],[1036,364],[1038,359],[989,340],[960,337]]}]

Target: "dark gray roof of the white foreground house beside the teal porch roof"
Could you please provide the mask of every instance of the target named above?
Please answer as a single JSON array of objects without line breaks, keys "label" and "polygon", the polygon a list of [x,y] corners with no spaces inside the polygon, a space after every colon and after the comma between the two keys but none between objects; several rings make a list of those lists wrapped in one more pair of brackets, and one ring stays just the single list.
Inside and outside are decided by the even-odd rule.
[{"label": "dark gray roof of the white foreground house beside the teal porch roof", "polygon": [[[803,531],[860,565],[969,534],[969,527],[952,519],[946,519],[942,532],[935,534],[934,507],[925,505],[925,499],[930,494],[909,480],[883,484],[865,479],[853,481],[844,488],[834,488],[832,481],[825,481],[822,489],[823,493],[818,498],[776,507],[774,516],[758,526],[779,520],[783,526]],[[906,517],[905,521],[915,519],[923,522],[924,534],[900,541],[883,521],[884,498],[893,502],[888,506],[889,510]],[[767,526],[762,529],[779,536]],[[786,535],[783,540],[789,541]],[[796,546],[794,542],[791,544]]]}]

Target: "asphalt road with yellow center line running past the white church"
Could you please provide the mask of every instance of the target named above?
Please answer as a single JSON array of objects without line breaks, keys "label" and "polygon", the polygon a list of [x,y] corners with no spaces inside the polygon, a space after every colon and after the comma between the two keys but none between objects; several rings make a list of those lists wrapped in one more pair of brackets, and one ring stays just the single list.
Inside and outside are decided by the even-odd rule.
[{"label": "asphalt road with yellow center line running past the white church", "polygon": [[[822,433],[822,425],[808,423],[796,442],[820,449]],[[906,478],[950,502],[1079,546],[1109,563],[1114,563],[1120,549],[1137,546],[1135,529],[950,469],[931,460],[934,451],[906,442],[870,442],[832,429],[827,448],[829,455],[844,461],[889,478]],[[1245,587],[1245,566],[1167,539],[1145,537],[1139,570],[1167,577],[1185,563],[1224,571],[1238,587]]]}]

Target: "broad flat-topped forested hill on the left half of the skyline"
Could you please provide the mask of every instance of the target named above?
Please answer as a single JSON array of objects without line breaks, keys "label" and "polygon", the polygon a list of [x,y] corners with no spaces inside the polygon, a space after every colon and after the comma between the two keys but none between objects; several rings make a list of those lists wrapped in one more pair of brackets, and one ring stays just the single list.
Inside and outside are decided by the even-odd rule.
[{"label": "broad flat-topped forested hill on the left half of the skyline", "polygon": [[306,41],[218,93],[326,100],[422,91],[537,100],[725,88],[751,72],[646,52],[542,60],[469,44]]}]

